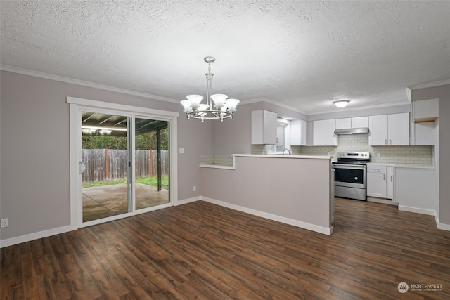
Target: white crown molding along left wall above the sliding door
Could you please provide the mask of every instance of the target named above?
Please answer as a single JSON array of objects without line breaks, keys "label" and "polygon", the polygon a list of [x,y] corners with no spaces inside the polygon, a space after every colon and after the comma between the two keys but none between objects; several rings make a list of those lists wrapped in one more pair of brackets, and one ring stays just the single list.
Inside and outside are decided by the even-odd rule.
[{"label": "white crown molding along left wall above the sliding door", "polygon": [[130,91],[127,89],[115,88],[114,86],[105,86],[103,84],[95,84],[94,82],[82,81],[82,80],[78,80],[78,79],[62,77],[62,76],[48,74],[48,73],[44,73],[44,72],[22,69],[20,67],[12,67],[11,65],[0,65],[0,70],[23,74],[23,75],[28,75],[28,76],[32,76],[32,77],[39,77],[39,78],[44,78],[44,79],[65,82],[67,84],[77,84],[79,86],[88,86],[90,88],[102,89],[105,91],[113,91],[115,93],[124,93],[124,94],[131,95],[131,96],[139,96],[139,97],[143,97],[143,98],[150,98],[153,100],[161,100],[161,101],[166,101],[166,102],[179,103],[179,100],[162,97],[162,96],[156,96],[156,95],[152,95],[150,93],[141,93],[138,91]]}]

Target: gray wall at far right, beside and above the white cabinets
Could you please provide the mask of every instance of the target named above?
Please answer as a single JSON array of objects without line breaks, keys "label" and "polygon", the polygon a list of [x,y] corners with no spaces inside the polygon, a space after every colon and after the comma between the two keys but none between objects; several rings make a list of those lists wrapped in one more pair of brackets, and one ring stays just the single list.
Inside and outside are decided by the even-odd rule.
[{"label": "gray wall at far right, beside and above the white cabinets", "polygon": [[411,91],[411,100],[439,98],[439,222],[450,224],[450,84]]}]

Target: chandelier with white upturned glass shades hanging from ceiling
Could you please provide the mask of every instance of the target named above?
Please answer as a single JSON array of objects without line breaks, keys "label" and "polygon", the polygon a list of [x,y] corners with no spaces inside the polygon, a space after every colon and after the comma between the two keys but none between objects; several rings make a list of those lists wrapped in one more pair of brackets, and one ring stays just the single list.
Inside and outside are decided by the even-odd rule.
[{"label": "chandelier with white upturned glass shades hanging from ceiling", "polygon": [[[188,119],[201,119],[202,122],[205,119],[233,119],[233,112],[236,112],[236,105],[239,100],[227,99],[228,96],[223,93],[216,93],[211,95],[211,82],[214,74],[211,73],[211,63],[216,61],[212,56],[207,56],[203,60],[208,64],[208,72],[206,75],[206,103],[201,103],[203,96],[201,95],[188,95],[188,100],[181,101],[181,105],[184,107]],[[213,105],[214,103],[214,105]]]}]

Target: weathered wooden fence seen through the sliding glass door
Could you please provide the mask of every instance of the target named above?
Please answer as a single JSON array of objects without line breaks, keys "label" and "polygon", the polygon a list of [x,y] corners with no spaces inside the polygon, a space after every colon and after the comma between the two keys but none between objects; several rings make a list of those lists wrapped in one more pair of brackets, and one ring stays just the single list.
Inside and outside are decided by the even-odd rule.
[{"label": "weathered wooden fence seen through the sliding glass door", "polygon": [[[136,178],[157,175],[157,150],[136,150]],[[83,182],[127,178],[128,150],[83,149]],[[161,151],[161,175],[169,174],[169,151]]]}]

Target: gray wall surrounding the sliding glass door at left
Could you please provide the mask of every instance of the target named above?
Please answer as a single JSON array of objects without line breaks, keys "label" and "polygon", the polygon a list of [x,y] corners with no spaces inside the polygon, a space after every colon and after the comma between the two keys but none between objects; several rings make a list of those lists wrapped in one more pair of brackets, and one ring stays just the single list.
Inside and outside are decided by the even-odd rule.
[{"label": "gray wall surrounding the sliding glass door at left", "polygon": [[0,217],[9,219],[1,240],[70,223],[67,96],[180,112],[179,199],[200,195],[199,156],[212,152],[212,129],[188,122],[178,103],[1,72]]}]

